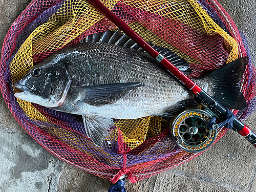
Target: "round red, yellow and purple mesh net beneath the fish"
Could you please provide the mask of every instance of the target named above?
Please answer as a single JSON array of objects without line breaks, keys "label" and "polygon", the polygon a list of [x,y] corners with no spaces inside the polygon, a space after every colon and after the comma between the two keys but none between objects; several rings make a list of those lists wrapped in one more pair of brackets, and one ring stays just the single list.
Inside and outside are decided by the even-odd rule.
[{"label": "round red, yellow and purple mesh net beneath the fish", "polygon": [[[144,40],[168,48],[190,63],[200,77],[242,56],[250,56],[246,37],[216,0],[102,0]],[[33,0],[12,24],[4,40],[0,87],[20,125],[51,154],[115,183],[122,175],[136,182],[180,165],[200,153],[182,151],[169,133],[169,122],[150,116],[117,120],[98,147],[86,136],[81,116],[60,113],[19,100],[13,83],[51,53],[78,44],[90,34],[116,26],[89,2]],[[255,110],[255,69],[249,64],[241,82],[248,107]],[[193,100],[188,101],[193,105]],[[217,137],[224,134],[223,129]]]}]

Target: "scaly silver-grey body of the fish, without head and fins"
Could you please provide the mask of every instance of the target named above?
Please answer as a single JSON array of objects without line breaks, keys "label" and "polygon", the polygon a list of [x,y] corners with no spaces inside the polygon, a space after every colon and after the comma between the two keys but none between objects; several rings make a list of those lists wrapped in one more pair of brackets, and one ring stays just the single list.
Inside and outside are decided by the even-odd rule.
[{"label": "scaly silver-grey body of the fish, without head and fins", "polygon": [[[71,77],[75,76],[72,78],[71,88],[77,84],[143,82],[142,87],[120,96],[120,99],[114,103],[100,108],[88,106],[88,104],[79,106],[79,109],[86,109],[84,111],[111,118],[135,119],[148,115],[158,115],[173,108],[177,101],[192,97],[182,84],[144,53],[102,43],[88,43],[75,48],[71,47],[68,50],[72,50],[65,50],[68,55],[72,55],[69,56],[68,73]],[[81,82],[80,80],[84,76],[93,78]],[[70,103],[76,102],[76,99],[74,92],[70,91],[66,100],[67,104],[63,103],[55,110],[80,114],[79,111],[70,106]]]}]

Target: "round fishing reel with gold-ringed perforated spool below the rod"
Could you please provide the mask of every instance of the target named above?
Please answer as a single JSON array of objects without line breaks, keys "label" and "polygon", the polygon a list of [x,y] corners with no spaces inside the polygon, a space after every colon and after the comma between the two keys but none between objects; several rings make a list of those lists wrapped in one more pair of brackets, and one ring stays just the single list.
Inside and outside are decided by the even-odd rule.
[{"label": "round fishing reel with gold-ringed perforated spool below the rod", "polygon": [[190,109],[179,114],[170,123],[175,143],[182,150],[191,153],[202,152],[210,147],[218,134],[218,128],[207,127],[212,115],[199,109]]}]

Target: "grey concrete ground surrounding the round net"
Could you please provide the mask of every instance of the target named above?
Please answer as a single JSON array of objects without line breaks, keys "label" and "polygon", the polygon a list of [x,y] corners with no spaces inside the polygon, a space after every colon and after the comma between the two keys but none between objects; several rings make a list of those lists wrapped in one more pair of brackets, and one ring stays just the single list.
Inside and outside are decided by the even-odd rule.
[{"label": "grey concrete ground surrounding the round net", "polygon": [[[0,46],[14,19],[30,0],[0,1]],[[220,0],[247,38],[256,64],[256,2]],[[110,182],[74,168],[49,154],[15,121],[0,96],[0,191],[107,191]],[[256,132],[256,113],[244,121]],[[131,184],[129,192],[256,191],[256,153],[233,131],[199,157]]]}]

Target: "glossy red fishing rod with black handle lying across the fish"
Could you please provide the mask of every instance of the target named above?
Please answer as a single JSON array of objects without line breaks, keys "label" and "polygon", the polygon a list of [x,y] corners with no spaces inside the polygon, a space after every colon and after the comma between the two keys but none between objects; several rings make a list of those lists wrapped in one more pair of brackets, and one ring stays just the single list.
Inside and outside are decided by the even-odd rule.
[{"label": "glossy red fishing rod with black handle lying across the fish", "polygon": [[[155,58],[165,69],[172,73],[180,80],[184,86],[186,86],[191,92],[193,92],[197,98],[203,103],[210,106],[212,110],[218,116],[224,118],[229,113],[227,108],[224,108],[215,99],[211,98],[201,87],[194,81],[188,78],[183,72],[169,62],[164,56],[159,54],[154,48],[152,48],[146,41],[144,41],[137,33],[135,33],[129,26],[127,26],[119,17],[112,13],[98,0],[89,0],[100,12],[108,17],[117,27],[119,27],[124,33],[130,36],[141,48],[143,48],[148,54]],[[239,119],[233,119],[234,131],[237,131],[240,135],[245,137],[254,147],[256,147],[256,134],[253,133],[247,125],[242,123]]]}]

